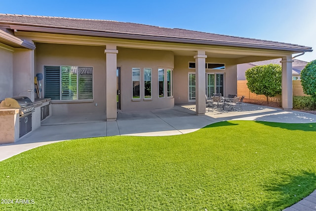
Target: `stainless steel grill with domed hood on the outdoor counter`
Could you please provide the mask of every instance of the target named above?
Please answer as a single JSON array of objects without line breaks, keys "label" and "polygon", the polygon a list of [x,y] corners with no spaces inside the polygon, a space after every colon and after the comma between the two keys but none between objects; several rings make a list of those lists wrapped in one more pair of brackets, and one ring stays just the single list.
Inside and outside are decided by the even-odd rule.
[{"label": "stainless steel grill with domed hood on the outdoor counter", "polygon": [[31,114],[35,111],[32,100],[26,96],[5,98],[0,103],[0,109],[18,108],[20,116]]}]

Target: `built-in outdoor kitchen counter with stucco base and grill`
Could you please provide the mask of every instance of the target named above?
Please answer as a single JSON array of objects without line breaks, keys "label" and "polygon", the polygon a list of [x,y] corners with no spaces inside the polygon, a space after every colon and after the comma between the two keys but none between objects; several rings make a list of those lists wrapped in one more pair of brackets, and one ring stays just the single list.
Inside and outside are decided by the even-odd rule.
[{"label": "built-in outdoor kitchen counter with stucco base and grill", "polygon": [[14,143],[40,127],[51,116],[50,98],[27,96],[5,98],[0,102],[0,144]]}]

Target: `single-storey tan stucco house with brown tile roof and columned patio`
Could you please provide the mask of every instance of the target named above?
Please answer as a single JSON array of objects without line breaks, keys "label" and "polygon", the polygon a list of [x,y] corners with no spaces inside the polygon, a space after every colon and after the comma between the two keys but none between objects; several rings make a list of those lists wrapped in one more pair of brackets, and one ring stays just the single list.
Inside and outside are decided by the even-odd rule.
[{"label": "single-storey tan stucco house with brown tile roof and columned patio", "polygon": [[237,65],[281,59],[282,107],[292,109],[292,54],[311,47],[108,20],[0,14],[0,100],[40,98],[53,115],[171,108],[205,93],[237,93]]}]

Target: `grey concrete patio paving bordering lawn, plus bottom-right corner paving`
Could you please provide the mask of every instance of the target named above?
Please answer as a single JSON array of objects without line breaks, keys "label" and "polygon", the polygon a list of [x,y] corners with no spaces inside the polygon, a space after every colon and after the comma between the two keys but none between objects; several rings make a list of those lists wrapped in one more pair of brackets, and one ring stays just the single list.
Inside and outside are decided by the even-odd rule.
[{"label": "grey concrete patio paving bordering lawn, plus bottom-right corner paving", "polygon": [[[243,111],[206,109],[197,116],[195,105],[176,105],[172,109],[157,109],[135,113],[119,113],[115,122],[105,122],[104,115],[52,116],[41,127],[14,144],[0,145],[0,161],[21,152],[70,139],[141,135],[161,136],[189,133],[207,125],[227,120],[255,120],[279,123],[316,123],[316,115],[297,111],[243,104]],[[316,211],[316,192],[286,211]]]}]

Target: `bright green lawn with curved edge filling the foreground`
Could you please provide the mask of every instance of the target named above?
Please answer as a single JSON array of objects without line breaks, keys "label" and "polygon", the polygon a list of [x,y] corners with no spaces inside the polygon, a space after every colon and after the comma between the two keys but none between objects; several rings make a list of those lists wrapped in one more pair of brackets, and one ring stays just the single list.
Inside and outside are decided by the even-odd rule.
[{"label": "bright green lawn with curved edge filling the foreground", "polygon": [[0,210],[277,211],[316,189],[315,155],[316,124],[64,141],[0,162]]}]

